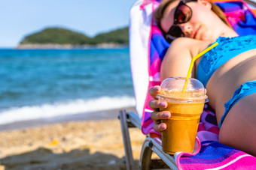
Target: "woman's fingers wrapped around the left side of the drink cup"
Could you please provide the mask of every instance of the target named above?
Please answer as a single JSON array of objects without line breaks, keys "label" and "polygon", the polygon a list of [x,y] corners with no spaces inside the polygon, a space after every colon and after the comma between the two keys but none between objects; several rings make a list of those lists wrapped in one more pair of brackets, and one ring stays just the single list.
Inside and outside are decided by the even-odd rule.
[{"label": "woman's fingers wrapped around the left side of the drink cup", "polygon": [[154,100],[149,101],[148,105],[154,112],[151,112],[151,118],[154,120],[154,130],[157,132],[161,132],[166,130],[166,124],[161,123],[160,119],[168,119],[171,117],[171,113],[169,111],[160,112],[160,108],[164,109],[167,107],[167,102],[165,100],[157,100],[157,94],[161,91],[161,87],[156,85],[149,89],[148,93],[151,94],[151,97]]}]

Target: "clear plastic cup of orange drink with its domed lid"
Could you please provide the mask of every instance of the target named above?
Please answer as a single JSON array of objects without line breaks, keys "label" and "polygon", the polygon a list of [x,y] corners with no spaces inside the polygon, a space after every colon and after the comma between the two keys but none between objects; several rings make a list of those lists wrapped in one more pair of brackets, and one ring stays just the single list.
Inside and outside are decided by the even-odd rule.
[{"label": "clear plastic cup of orange drink with its domed lid", "polygon": [[189,79],[183,93],[186,78],[170,77],[162,84],[162,91],[157,94],[159,100],[166,100],[166,109],[171,112],[169,119],[161,120],[167,128],[162,132],[162,148],[166,154],[176,152],[192,153],[197,136],[200,115],[204,103],[208,101],[206,89],[197,79]]}]

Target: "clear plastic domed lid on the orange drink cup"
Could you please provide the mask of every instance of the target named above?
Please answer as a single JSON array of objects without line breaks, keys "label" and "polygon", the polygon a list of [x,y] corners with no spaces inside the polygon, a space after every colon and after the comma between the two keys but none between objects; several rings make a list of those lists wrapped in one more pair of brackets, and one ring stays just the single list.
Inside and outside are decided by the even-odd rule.
[{"label": "clear plastic domed lid on the orange drink cup", "polygon": [[187,82],[187,88],[183,93],[183,87],[186,78],[184,77],[169,77],[161,83],[162,91],[157,94],[160,100],[178,103],[205,103],[208,101],[206,89],[202,82],[197,79],[190,78]]}]

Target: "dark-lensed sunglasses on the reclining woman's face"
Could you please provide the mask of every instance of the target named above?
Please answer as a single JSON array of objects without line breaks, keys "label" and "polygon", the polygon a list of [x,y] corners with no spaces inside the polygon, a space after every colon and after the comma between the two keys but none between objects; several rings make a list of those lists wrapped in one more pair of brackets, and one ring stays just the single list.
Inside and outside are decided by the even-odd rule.
[{"label": "dark-lensed sunglasses on the reclining woman's face", "polygon": [[192,10],[184,1],[180,1],[174,12],[174,22],[169,31],[165,34],[168,43],[171,43],[176,37],[184,37],[184,33],[178,24],[188,22],[191,19]]}]

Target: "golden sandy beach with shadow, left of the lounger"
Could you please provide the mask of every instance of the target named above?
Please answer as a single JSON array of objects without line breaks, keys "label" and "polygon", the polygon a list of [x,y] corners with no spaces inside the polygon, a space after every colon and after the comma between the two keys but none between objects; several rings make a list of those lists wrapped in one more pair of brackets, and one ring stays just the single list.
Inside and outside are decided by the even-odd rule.
[{"label": "golden sandy beach with shadow, left of the lounger", "polygon": [[[110,112],[41,121],[36,126],[36,121],[31,126],[29,122],[2,126],[0,170],[126,169],[118,112],[108,116]],[[130,128],[130,136],[139,166],[145,136],[136,128]]]}]

